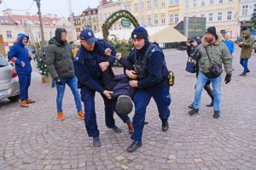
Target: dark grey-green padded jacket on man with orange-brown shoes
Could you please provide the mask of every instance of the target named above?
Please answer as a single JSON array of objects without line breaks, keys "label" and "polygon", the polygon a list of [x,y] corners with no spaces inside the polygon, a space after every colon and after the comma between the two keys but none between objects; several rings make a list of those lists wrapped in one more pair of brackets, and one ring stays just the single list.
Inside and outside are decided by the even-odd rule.
[{"label": "dark grey-green padded jacket on man with orange-brown shoes", "polygon": [[55,37],[49,40],[46,48],[46,65],[53,78],[74,77],[73,53],[71,46],[57,42]]}]

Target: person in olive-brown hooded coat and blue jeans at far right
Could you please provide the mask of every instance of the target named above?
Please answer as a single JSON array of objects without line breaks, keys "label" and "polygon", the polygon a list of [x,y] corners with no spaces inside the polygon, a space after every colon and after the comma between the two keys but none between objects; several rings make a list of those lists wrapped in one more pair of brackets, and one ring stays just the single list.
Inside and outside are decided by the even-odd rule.
[{"label": "person in olive-brown hooded coat and blue jeans at far right", "polygon": [[248,69],[248,59],[251,58],[253,52],[253,37],[251,37],[250,31],[242,31],[241,36],[244,38],[242,42],[238,44],[241,48],[240,64],[243,67],[243,71],[239,76],[246,76],[250,70]]}]

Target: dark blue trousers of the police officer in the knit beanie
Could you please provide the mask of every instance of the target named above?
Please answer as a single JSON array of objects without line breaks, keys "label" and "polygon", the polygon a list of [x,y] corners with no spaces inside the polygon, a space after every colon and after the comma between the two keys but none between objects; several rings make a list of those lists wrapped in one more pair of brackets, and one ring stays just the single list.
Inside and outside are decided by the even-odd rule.
[{"label": "dark blue trousers of the police officer in the knit beanie", "polygon": [[134,95],[135,115],[133,116],[134,133],[131,139],[141,141],[143,137],[143,127],[145,122],[146,110],[151,97],[153,97],[161,121],[167,120],[170,116],[169,106],[171,105],[171,97],[169,93],[170,87],[167,82],[150,89],[138,89]]}]

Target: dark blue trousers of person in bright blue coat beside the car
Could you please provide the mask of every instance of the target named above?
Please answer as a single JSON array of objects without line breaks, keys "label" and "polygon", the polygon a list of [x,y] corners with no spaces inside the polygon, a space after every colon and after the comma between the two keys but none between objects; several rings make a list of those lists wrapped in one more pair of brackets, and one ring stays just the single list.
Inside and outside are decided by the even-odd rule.
[{"label": "dark blue trousers of person in bright blue coat beside the car", "polygon": [[31,83],[31,74],[19,74],[20,83],[20,99],[21,101],[28,99],[28,88]]}]

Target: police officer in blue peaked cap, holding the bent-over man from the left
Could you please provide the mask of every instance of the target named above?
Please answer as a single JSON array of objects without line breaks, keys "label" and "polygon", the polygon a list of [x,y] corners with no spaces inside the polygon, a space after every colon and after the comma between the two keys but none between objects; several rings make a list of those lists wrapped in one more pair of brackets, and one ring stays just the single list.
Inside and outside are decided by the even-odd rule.
[{"label": "police officer in blue peaked cap, holding the bent-over man from the left", "polygon": [[[107,71],[114,63],[115,49],[107,42],[98,40],[90,29],[85,29],[80,34],[81,47],[74,59],[75,75],[81,88],[81,99],[84,102],[84,123],[89,137],[93,138],[95,147],[101,146],[99,130],[96,123],[95,94],[102,95],[105,105],[105,122],[107,127],[115,133],[121,133],[121,129],[115,126],[113,119],[113,100],[109,91],[104,90],[102,71]],[[121,116],[123,122],[129,122],[128,116]]]}]

